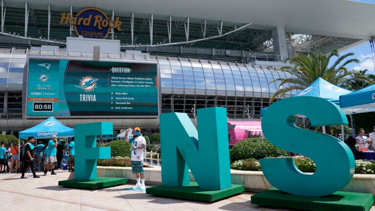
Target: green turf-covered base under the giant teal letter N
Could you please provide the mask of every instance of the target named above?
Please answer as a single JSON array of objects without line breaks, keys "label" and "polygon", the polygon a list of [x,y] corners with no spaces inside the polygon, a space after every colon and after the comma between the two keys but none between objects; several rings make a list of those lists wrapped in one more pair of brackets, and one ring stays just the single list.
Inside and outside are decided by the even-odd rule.
[{"label": "green turf-covered base under the giant teal letter N", "polygon": [[243,185],[233,185],[224,190],[204,190],[200,189],[196,182],[190,182],[189,185],[181,187],[155,186],[146,188],[146,193],[157,196],[167,196],[170,198],[193,199],[200,201],[213,202],[237,193],[243,192]]}]

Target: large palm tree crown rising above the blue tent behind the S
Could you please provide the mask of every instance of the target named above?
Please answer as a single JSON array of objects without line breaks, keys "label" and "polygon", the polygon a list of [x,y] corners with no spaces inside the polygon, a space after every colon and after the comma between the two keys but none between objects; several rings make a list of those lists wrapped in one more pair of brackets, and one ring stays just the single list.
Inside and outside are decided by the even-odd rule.
[{"label": "large palm tree crown rising above the blue tent behind the S", "polygon": [[[349,63],[358,63],[358,59],[349,59],[354,53],[347,53],[339,56],[337,50],[333,50],[327,57],[322,53],[317,55],[310,52],[308,55],[298,54],[294,57],[285,60],[293,66],[283,66],[275,71],[284,71],[292,74],[292,78],[278,78],[272,82],[281,82],[277,91],[272,95],[270,101],[272,102],[277,96],[284,96],[285,93],[292,90],[303,90],[318,77],[330,82],[331,84],[342,86],[349,81],[355,79],[356,81],[371,82],[364,75],[360,75],[356,71],[348,71],[345,65]],[[330,65],[330,60],[337,57],[337,60]],[[272,83],[271,82],[271,83]]]}]

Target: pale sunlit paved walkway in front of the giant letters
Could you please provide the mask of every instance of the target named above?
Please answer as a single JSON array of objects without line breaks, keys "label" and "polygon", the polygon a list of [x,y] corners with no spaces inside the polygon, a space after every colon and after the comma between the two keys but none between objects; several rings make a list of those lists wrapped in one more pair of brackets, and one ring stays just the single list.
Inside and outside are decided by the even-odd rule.
[{"label": "pale sunlit paved walkway in front of the giant letters", "polygon": [[[48,211],[287,211],[286,209],[264,208],[251,205],[250,196],[242,194],[213,203],[171,199],[147,195],[145,192],[124,190],[134,184],[110,187],[100,190],[80,190],[58,186],[60,180],[73,179],[74,172],[57,170],[57,175],[33,178],[26,173],[0,173],[0,194],[3,202],[12,210],[30,208]],[[371,208],[375,211],[375,207]]]}]

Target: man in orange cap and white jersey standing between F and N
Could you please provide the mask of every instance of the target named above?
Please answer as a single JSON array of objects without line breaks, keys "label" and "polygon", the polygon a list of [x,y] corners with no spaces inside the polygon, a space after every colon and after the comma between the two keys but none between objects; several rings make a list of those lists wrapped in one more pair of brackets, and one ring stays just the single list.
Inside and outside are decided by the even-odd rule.
[{"label": "man in orange cap and white jersey standing between F and N", "polygon": [[[128,130],[126,130],[126,134]],[[146,148],[146,139],[141,134],[141,128],[135,127],[133,129],[133,137],[126,137],[127,142],[130,143],[130,157],[131,169],[135,173],[137,184],[133,189],[146,190],[145,186],[145,171],[143,170],[143,149]]]}]

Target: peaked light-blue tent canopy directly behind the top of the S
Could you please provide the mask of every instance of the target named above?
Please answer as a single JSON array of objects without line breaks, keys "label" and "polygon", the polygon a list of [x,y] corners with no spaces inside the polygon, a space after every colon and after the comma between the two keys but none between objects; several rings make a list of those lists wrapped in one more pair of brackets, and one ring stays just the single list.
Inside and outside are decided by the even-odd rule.
[{"label": "peaked light-blue tent canopy directly behind the top of the S", "polygon": [[[312,84],[306,87],[304,90],[298,92],[292,97],[312,96],[312,97],[323,98],[336,105],[340,105],[340,96],[349,94],[349,93],[352,93],[352,91],[333,85],[329,83],[328,81],[319,77],[314,82],[312,82]],[[262,108],[260,110],[261,116],[263,116],[266,109],[267,108]]]}]

